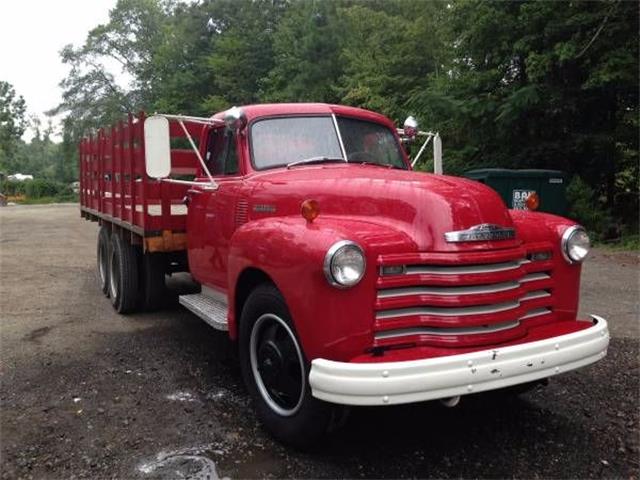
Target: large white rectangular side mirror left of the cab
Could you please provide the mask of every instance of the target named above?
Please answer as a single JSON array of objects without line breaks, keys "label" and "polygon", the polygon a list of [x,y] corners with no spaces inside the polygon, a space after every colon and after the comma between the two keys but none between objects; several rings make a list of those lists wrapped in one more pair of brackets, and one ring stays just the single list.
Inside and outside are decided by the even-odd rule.
[{"label": "large white rectangular side mirror left of the cab", "polygon": [[153,115],[144,121],[144,163],[147,175],[167,178],[171,174],[169,120]]}]

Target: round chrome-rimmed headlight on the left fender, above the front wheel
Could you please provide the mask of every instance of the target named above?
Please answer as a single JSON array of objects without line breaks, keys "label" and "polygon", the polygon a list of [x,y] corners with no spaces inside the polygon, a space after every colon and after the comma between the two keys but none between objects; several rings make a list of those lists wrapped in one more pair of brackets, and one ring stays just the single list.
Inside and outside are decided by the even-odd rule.
[{"label": "round chrome-rimmed headlight on the left fender, above the front wheel", "polygon": [[338,288],[353,287],[364,275],[366,261],[360,245],[350,240],[334,243],[324,257],[324,275]]}]

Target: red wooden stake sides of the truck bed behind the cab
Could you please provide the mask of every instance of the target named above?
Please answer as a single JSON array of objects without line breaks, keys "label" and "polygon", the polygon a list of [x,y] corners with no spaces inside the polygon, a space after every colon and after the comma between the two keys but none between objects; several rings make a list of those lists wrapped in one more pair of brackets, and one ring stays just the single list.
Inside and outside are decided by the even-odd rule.
[{"label": "red wooden stake sides of the truck bed behind the cab", "polygon": [[[148,177],[144,165],[144,112],[81,140],[80,211],[84,218],[106,221],[142,237],[145,250],[186,248],[187,185]],[[203,126],[184,122],[194,140]],[[170,123],[172,143],[186,135]],[[182,141],[186,145],[185,141]],[[172,148],[171,174],[195,176],[198,159],[191,149]]]}]

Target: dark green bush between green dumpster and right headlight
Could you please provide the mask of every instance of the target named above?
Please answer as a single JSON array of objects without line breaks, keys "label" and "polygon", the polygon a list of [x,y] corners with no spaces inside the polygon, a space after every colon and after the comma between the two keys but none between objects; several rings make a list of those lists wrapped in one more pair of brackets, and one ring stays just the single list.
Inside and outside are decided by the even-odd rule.
[{"label": "dark green bush between green dumpster and right headlight", "polygon": [[608,236],[611,215],[598,203],[593,189],[577,175],[567,186],[567,200],[570,218],[580,222],[596,239]]}]

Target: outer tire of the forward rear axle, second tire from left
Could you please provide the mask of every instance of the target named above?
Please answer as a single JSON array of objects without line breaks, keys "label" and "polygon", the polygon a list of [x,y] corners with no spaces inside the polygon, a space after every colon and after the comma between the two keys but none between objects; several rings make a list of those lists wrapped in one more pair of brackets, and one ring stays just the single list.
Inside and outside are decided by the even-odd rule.
[{"label": "outer tire of the forward rear axle, second tire from left", "polygon": [[138,261],[133,245],[120,235],[111,235],[109,296],[118,313],[133,312],[138,303]]}]

